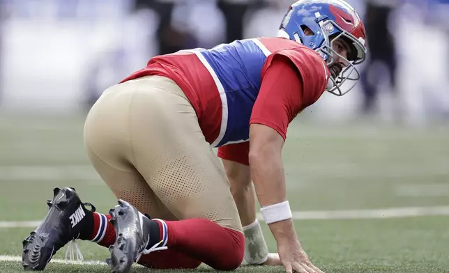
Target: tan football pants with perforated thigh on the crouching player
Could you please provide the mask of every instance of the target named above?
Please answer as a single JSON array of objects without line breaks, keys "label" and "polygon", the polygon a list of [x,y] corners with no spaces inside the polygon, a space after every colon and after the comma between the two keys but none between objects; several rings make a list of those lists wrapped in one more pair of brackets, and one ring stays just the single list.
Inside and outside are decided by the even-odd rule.
[{"label": "tan football pants with perforated thigh on the crouching player", "polygon": [[195,110],[166,77],[108,88],[84,125],[89,159],[117,198],[153,218],[205,218],[242,232],[218,157]]}]

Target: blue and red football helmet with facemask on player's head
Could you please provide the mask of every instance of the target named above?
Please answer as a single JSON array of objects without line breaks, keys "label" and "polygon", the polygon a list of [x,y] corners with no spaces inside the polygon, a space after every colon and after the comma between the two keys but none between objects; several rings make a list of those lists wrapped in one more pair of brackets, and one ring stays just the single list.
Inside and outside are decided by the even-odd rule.
[{"label": "blue and red football helmet with facemask on player's head", "polygon": [[[310,31],[305,34],[305,29]],[[280,24],[278,36],[300,42],[317,51],[328,67],[333,65],[335,56],[347,66],[336,77],[329,77],[326,91],[341,96],[348,93],[360,79],[354,65],[365,61],[365,26],[356,10],[344,0],[299,0],[293,3]],[[333,41],[343,38],[351,47],[344,58],[333,50]],[[355,74],[354,76],[351,76]],[[353,81],[342,91],[345,81]]]}]

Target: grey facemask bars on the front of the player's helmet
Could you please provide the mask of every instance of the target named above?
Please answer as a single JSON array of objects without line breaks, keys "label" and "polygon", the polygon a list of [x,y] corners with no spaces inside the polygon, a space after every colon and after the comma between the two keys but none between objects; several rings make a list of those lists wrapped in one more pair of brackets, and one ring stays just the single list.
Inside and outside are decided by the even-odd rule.
[{"label": "grey facemask bars on the front of the player's helmet", "polygon": [[[358,72],[355,65],[363,63],[365,61],[366,49],[365,49],[365,41],[360,38],[357,39],[348,31],[342,29],[338,24],[336,24],[333,20],[329,20],[326,16],[320,16],[319,13],[316,14],[317,22],[324,36],[324,42],[322,45],[317,48],[317,52],[323,57],[326,61],[328,68],[333,65],[335,61],[335,56],[340,58],[347,64],[339,75],[333,77],[330,75],[329,84],[326,91],[333,93],[333,95],[342,96],[351,89],[356,86],[358,80],[360,79],[360,72]],[[344,58],[341,54],[338,54],[333,49],[333,42],[338,38],[343,38],[351,47],[351,52],[349,52],[348,58]],[[353,75],[355,73],[355,75]],[[352,84],[345,88],[346,91],[342,91],[341,86],[345,81],[353,81]]]}]

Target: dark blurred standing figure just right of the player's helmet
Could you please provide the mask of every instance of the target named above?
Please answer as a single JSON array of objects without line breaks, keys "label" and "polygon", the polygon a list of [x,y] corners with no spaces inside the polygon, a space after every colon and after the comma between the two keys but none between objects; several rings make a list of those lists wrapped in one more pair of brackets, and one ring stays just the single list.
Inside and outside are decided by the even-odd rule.
[{"label": "dark blurred standing figure just right of the player's helmet", "polygon": [[363,112],[376,110],[379,81],[382,68],[388,69],[391,91],[396,91],[395,41],[388,28],[390,14],[397,8],[396,0],[367,0],[365,7],[365,27],[368,39],[368,60],[362,73]]}]

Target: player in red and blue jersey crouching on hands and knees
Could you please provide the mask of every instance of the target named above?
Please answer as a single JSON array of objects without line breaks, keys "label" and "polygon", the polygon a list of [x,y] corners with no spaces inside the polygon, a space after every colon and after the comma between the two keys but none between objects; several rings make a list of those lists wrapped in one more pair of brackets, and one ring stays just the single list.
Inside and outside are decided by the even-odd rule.
[{"label": "player in red and blue jersey crouching on hands and knees", "polygon": [[109,247],[113,272],[135,262],[215,270],[234,270],[244,257],[264,263],[254,182],[277,242],[274,263],[321,273],[291,219],[282,147],[301,111],[325,91],[341,96],[356,84],[365,39],[346,1],[300,0],[278,37],[153,57],[102,93],[86,117],[89,159],[119,205],[101,214],[74,189],[54,189],[47,216],[23,242],[24,268],[43,270],[74,239]]}]

